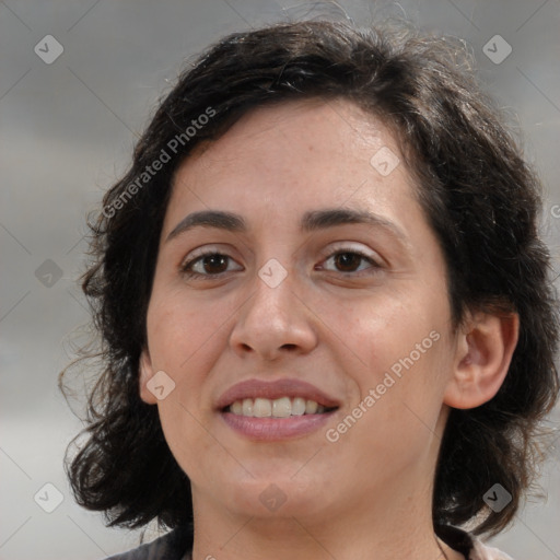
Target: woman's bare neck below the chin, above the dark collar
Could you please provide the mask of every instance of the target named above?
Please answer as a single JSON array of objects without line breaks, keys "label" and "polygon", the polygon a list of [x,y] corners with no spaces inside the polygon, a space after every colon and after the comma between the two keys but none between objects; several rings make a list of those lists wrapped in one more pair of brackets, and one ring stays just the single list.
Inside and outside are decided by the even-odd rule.
[{"label": "woman's bare neck below the chin, above the dark collar", "polygon": [[417,486],[415,494],[397,489],[389,502],[392,492],[377,494],[374,503],[365,494],[368,500],[352,508],[268,517],[195,499],[192,560],[463,559],[434,535],[430,488]]}]

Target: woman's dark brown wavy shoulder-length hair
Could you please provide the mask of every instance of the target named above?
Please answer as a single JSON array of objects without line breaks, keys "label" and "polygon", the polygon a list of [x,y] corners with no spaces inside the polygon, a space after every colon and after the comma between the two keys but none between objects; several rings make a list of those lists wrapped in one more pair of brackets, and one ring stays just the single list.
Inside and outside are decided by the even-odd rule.
[{"label": "woman's dark brown wavy shoulder-length hair", "polygon": [[[464,45],[402,25],[314,21],[233,34],[161,102],[130,170],[90,224],[83,291],[101,335],[102,372],[89,395],[86,439],[67,456],[75,498],[104,511],[109,525],[191,522],[189,480],[138,381],[173,176],[196,145],[247,112],[301,98],[351,101],[395,133],[445,256],[454,328],[472,311],[520,316],[502,387],[478,408],[451,411],[435,472],[436,530],[476,521],[476,534],[498,533],[532,482],[540,420],[559,389],[557,300],[537,231],[541,186],[477,85]],[[495,482],[512,494],[501,512],[483,501]]]}]

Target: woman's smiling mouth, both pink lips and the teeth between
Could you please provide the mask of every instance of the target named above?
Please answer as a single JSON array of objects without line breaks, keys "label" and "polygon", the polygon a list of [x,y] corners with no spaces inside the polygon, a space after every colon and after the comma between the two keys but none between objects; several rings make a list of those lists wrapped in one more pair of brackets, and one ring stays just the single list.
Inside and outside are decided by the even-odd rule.
[{"label": "woman's smiling mouth, both pink lips and the teeth between", "polygon": [[248,380],[228,389],[217,409],[225,423],[254,441],[301,438],[318,430],[340,402],[300,380]]}]

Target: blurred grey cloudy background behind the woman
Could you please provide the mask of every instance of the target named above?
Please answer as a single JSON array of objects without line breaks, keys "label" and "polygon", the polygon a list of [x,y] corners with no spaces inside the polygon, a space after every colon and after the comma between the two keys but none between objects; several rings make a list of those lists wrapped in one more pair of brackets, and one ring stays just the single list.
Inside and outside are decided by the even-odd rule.
[{"label": "blurred grey cloudy background behind the woman", "polygon": [[[0,0],[1,560],[94,560],[138,541],[73,503],[62,456],[80,422],[57,375],[72,357],[69,335],[88,320],[75,282],[85,214],[184,60],[220,36],[346,12],[465,38],[540,171],[542,231],[560,268],[560,0],[294,2]],[[548,500],[532,499],[494,540],[516,560],[560,559],[558,444],[540,479]]]}]

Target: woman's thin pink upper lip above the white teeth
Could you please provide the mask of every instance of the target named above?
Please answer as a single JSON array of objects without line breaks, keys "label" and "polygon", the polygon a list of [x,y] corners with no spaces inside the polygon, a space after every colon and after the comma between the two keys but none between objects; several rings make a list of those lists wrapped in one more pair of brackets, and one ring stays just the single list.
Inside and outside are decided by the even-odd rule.
[{"label": "woman's thin pink upper lip above the white teeth", "polygon": [[236,400],[259,397],[271,400],[281,397],[301,397],[306,400],[315,400],[318,405],[323,405],[326,408],[339,406],[338,400],[311,383],[294,378],[282,378],[277,381],[247,380],[237,383],[222,394],[218,399],[217,408],[221,410]]}]

